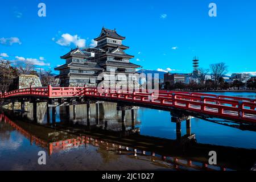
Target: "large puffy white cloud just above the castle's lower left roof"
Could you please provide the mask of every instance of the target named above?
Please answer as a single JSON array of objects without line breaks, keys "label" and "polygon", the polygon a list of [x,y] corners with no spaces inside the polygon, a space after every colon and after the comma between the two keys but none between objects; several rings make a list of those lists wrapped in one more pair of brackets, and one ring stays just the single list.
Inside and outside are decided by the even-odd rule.
[{"label": "large puffy white cloud just above the castle's lower left roof", "polygon": [[[55,39],[53,39],[53,40],[55,40]],[[72,36],[70,34],[62,34],[61,38],[59,40],[57,40],[56,43],[59,44],[60,46],[70,46],[71,43],[73,43],[73,44],[75,44],[75,46],[85,47],[86,40],[81,39],[77,35]]]}]

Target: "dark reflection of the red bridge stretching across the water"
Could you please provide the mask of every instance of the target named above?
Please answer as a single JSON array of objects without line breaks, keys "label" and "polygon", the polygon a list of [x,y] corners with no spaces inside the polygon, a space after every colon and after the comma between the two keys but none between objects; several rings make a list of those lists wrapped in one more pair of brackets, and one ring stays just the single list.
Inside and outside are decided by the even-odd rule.
[{"label": "dark reflection of the red bridge stretching across the water", "polygon": [[[16,118],[32,119],[31,115],[16,113],[14,116],[11,111],[5,111],[8,117],[1,114],[0,121],[9,123],[28,138],[31,144],[35,143],[45,148],[49,155],[73,147],[86,147],[90,144],[99,147],[98,152],[113,151],[115,154],[127,155],[130,158],[154,162],[158,166],[177,169],[250,169],[256,161],[256,150],[197,143],[195,134],[191,134],[189,130],[191,125],[188,121],[187,134],[181,137],[180,131],[177,130],[176,140],[140,135],[136,127],[138,122],[133,117],[126,117],[125,123],[118,122],[121,125],[113,125],[114,122],[111,123],[108,117],[113,118],[115,115],[118,118],[118,114],[110,112],[112,107],[114,106],[109,105],[109,109],[104,109],[106,118],[100,118],[98,121],[94,110],[92,110],[92,117],[86,118],[86,121],[80,115],[81,113],[61,114],[65,113],[64,110],[67,110],[67,107],[60,109],[60,122],[56,122],[54,117],[44,124],[42,124],[43,120],[40,121],[41,123],[31,123],[29,119],[27,121],[30,122],[22,122]],[[77,110],[82,109],[77,108]],[[47,115],[45,117],[48,118]],[[218,166],[208,165],[208,152],[212,150],[217,152]]]}]

